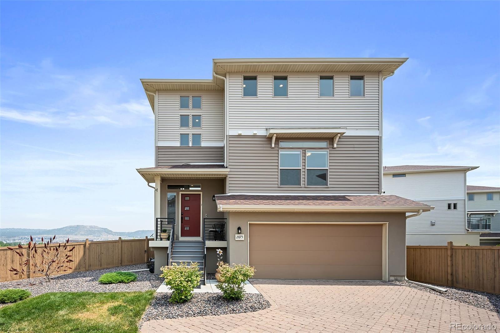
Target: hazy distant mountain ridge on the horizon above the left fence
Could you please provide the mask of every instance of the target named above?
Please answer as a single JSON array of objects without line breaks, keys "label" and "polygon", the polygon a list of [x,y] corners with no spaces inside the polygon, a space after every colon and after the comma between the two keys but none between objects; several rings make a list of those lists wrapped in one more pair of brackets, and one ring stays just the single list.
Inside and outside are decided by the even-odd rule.
[{"label": "hazy distant mountain ridge on the horizon above the left fence", "polygon": [[16,236],[65,236],[69,238],[142,238],[150,236],[153,230],[136,230],[129,232],[112,231],[97,225],[67,225],[55,229],[0,228],[1,237]]}]

